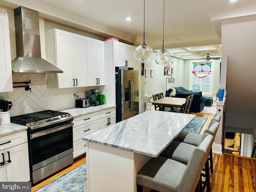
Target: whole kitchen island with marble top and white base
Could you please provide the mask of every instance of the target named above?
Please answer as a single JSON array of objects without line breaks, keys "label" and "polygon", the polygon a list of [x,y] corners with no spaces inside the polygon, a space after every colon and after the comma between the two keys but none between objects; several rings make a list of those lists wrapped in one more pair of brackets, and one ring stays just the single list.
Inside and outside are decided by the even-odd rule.
[{"label": "whole kitchen island with marble top and white base", "polygon": [[88,192],[136,192],[136,175],[195,118],[149,110],[84,136]]}]

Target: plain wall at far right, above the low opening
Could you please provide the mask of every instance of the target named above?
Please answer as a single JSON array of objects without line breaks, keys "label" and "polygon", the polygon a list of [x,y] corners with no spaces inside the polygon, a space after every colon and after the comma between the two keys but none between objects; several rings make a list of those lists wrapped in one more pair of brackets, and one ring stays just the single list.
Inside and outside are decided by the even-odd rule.
[{"label": "plain wall at far right, above the low opening", "polygon": [[256,129],[255,34],[255,16],[222,22],[222,54],[228,56],[226,128],[242,133]]}]

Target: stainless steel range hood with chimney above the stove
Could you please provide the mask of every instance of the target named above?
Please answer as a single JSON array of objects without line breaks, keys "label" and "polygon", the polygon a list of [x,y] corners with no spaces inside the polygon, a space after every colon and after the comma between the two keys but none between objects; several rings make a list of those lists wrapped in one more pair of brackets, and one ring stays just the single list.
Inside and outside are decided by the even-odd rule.
[{"label": "stainless steel range hood with chimney above the stove", "polygon": [[41,58],[38,12],[24,7],[16,8],[14,22],[17,57],[12,61],[12,72],[63,73]]}]

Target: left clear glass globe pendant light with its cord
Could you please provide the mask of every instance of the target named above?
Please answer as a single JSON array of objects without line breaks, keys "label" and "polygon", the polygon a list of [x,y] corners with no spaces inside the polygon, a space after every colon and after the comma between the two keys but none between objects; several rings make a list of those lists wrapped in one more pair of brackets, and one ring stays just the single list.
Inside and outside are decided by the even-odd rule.
[{"label": "left clear glass globe pendant light with its cord", "polygon": [[145,44],[145,0],[144,0],[144,32],[143,32],[143,44],[136,47],[134,50],[134,59],[138,63],[149,63],[154,56],[153,50],[150,46]]}]

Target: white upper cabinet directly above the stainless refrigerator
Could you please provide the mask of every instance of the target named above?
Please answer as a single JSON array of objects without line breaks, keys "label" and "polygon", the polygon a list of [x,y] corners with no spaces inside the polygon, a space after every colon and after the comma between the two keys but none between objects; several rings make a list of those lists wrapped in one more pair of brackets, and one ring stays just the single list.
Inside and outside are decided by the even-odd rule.
[{"label": "white upper cabinet directly above the stainless refrigerator", "polygon": [[134,68],[134,46],[122,42],[115,42],[115,66]]}]

